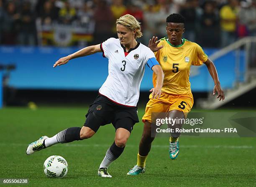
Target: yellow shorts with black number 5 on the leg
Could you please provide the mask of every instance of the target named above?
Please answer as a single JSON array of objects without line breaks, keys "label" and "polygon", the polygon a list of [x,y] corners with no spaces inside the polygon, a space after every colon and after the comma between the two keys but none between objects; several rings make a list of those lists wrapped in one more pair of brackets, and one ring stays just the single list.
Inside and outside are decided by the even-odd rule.
[{"label": "yellow shorts with black number 5 on the leg", "polygon": [[166,113],[172,110],[182,111],[187,117],[187,114],[192,109],[194,99],[192,93],[186,95],[174,95],[161,93],[159,99],[152,99],[152,93],[149,95],[149,101],[147,103],[145,114],[142,117],[142,121],[148,121],[152,123],[151,113]]}]

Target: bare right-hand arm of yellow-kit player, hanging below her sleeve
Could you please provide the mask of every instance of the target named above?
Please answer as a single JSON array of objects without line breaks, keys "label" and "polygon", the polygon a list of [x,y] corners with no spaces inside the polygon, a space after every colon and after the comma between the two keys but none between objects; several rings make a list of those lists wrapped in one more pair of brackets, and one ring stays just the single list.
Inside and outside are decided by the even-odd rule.
[{"label": "bare right-hand arm of yellow-kit player, hanging below her sleeve", "polygon": [[214,63],[208,58],[207,61],[204,62],[204,64],[207,66],[208,71],[210,72],[210,75],[212,76],[212,79],[214,81],[214,88],[213,88],[212,94],[215,95],[217,91],[218,92],[217,98],[220,98],[220,100],[222,99],[222,101],[224,101],[225,99],[224,91],[220,87],[220,81],[219,81],[218,73],[214,66]]}]

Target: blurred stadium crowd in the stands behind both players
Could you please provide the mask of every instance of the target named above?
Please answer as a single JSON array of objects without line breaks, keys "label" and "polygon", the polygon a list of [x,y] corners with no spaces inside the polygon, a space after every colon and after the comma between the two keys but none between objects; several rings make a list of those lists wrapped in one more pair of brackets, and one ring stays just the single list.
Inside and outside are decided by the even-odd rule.
[{"label": "blurred stadium crowd in the stands behind both players", "polygon": [[0,0],[1,45],[90,45],[116,37],[115,20],[136,17],[148,43],[166,36],[166,17],[180,13],[184,38],[224,47],[256,35],[256,0]]}]

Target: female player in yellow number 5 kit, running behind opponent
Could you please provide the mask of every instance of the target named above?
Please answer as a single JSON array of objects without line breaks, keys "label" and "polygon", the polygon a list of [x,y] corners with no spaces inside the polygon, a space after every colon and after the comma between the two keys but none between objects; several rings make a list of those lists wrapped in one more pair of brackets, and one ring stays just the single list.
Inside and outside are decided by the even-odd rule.
[{"label": "female player in yellow number 5 kit, running behind opponent", "polygon": [[[171,14],[166,18],[167,37],[157,41],[157,37],[149,40],[148,47],[155,53],[156,60],[164,71],[164,83],[161,89],[161,97],[152,99],[146,106],[142,118],[144,122],[143,134],[139,145],[137,164],[127,173],[137,175],[145,172],[146,158],[151,149],[151,129],[155,121],[151,113],[164,113],[169,119],[185,119],[193,106],[193,96],[190,89],[190,66],[207,66],[215,83],[213,94],[218,92],[219,100],[224,100],[224,92],[220,87],[220,81],[216,68],[207,57],[200,45],[182,38],[184,33],[184,18],[179,14]],[[156,75],[153,74],[153,84],[156,84]],[[175,123],[173,128],[181,128],[182,124]],[[171,133],[169,156],[176,159],[179,154],[179,135]]]}]

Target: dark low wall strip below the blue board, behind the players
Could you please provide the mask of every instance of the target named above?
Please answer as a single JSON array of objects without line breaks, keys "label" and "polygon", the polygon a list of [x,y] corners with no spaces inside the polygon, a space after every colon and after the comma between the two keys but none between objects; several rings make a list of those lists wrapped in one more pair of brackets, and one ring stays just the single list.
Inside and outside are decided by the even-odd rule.
[{"label": "dark low wall strip below the blue board, behind the players", "polygon": [[[207,92],[193,92],[194,106],[197,106],[197,99],[206,98]],[[251,109],[256,107],[254,96],[256,89],[249,91],[246,94],[234,99],[225,104],[224,108],[243,108]],[[9,90],[8,106],[27,106],[30,101],[43,106],[81,106],[88,107],[97,96],[97,91],[71,91],[71,90]],[[148,102],[148,91],[141,91],[138,106],[145,107]],[[215,96],[217,97],[217,96]]]}]

